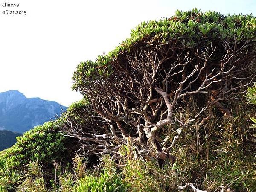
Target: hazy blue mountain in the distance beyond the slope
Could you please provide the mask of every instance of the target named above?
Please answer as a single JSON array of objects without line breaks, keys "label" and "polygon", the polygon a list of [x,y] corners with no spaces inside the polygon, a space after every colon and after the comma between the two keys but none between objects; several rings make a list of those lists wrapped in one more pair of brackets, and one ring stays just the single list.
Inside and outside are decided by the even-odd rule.
[{"label": "hazy blue mountain in the distance beyond the slope", "polygon": [[55,101],[40,98],[26,98],[17,90],[0,93],[0,130],[18,133],[28,131],[37,125],[54,119],[67,107]]}]

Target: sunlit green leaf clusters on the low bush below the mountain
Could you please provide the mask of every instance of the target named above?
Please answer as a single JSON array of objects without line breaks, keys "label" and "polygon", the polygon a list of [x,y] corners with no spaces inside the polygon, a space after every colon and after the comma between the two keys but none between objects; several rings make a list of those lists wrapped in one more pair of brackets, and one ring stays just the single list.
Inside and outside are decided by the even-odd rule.
[{"label": "sunlit green leaf clusters on the low bush below the mountain", "polygon": [[66,137],[54,132],[55,123],[57,122],[46,122],[17,137],[16,145],[6,150],[6,156],[12,159],[6,162],[8,169],[17,169],[29,161],[36,160],[51,163],[56,159],[56,154],[66,150],[64,146]]}]

